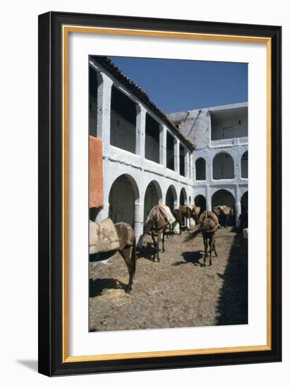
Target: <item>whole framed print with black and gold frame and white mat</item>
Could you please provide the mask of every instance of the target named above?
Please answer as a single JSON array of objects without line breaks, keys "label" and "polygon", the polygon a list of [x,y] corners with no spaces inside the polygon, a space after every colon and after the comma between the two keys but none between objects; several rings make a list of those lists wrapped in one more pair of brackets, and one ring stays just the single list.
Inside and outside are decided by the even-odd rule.
[{"label": "whole framed print with black and gold frame and white mat", "polygon": [[281,27],[39,16],[39,372],[281,360]]}]

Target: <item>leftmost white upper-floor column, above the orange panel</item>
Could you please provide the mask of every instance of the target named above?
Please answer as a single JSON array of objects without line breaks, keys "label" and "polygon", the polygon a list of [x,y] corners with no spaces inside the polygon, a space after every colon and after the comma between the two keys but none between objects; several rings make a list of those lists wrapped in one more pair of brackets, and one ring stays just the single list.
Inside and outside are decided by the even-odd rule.
[{"label": "leftmost white upper-floor column, above the orange panel", "polygon": [[97,90],[97,136],[102,138],[103,152],[109,150],[111,143],[111,87],[113,81],[101,73]]}]

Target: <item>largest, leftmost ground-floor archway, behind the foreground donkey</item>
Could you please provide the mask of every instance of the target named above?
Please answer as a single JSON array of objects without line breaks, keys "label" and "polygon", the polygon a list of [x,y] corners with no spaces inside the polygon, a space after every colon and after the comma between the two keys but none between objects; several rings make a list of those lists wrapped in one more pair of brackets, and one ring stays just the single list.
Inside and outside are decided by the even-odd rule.
[{"label": "largest, leftmost ground-floor archway, behind the foreground donkey", "polygon": [[127,222],[134,227],[135,202],[139,199],[139,191],[135,180],[123,174],[113,182],[109,192],[109,218],[114,223]]}]

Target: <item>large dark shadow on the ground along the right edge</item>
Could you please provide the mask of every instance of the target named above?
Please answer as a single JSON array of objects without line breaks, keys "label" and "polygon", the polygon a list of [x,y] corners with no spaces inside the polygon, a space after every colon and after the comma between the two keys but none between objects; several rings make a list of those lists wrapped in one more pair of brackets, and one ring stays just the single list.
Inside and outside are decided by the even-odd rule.
[{"label": "large dark shadow on the ground along the right edge", "polygon": [[236,234],[217,307],[217,325],[244,325],[248,323],[248,253],[242,234]]}]

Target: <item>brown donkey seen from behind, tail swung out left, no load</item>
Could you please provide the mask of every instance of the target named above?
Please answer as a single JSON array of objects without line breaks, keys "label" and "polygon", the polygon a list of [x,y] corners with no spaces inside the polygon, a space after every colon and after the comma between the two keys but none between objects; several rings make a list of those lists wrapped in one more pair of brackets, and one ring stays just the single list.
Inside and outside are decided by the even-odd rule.
[{"label": "brown donkey seen from behind, tail swung out left, no load", "polygon": [[216,257],[218,256],[215,246],[215,234],[218,228],[219,221],[216,217],[216,214],[206,210],[199,217],[199,224],[197,225],[197,229],[189,234],[184,240],[185,242],[191,241],[193,238],[195,238],[195,236],[197,236],[197,234],[202,233],[204,241],[204,265],[206,265],[206,259],[208,257],[208,245],[210,248],[209,265],[211,265],[211,253],[213,249]]}]

